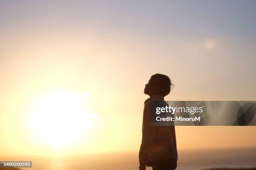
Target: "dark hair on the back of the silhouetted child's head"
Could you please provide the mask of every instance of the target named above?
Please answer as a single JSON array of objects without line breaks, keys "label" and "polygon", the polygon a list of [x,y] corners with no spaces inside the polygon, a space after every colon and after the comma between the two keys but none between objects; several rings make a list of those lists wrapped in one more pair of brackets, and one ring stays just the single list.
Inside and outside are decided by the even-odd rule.
[{"label": "dark hair on the back of the silhouetted child's head", "polygon": [[159,95],[166,96],[170,93],[173,84],[167,75],[154,74],[151,76],[151,81]]}]

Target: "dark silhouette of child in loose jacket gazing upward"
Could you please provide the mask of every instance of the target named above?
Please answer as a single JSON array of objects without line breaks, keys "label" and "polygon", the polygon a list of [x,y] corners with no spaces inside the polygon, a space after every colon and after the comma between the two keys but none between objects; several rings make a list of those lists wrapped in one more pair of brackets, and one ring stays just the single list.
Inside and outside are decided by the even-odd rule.
[{"label": "dark silhouette of child in loose jacket gazing upward", "polygon": [[144,93],[150,97],[144,102],[139,170],[146,170],[146,166],[151,166],[153,170],[174,170],[177,167],[174,125],[151,126],[151,101],[164,101],[171,85],[169,77],[162,74],[152,75],[145,85]]}]

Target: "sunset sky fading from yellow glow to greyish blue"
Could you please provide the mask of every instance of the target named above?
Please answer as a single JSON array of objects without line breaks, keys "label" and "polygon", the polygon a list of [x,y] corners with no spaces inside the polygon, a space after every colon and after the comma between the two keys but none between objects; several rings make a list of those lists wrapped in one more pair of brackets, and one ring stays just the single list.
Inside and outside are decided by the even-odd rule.
[{"label": "sunset sky fading from yellow glow to greyish blue", "polygon": [[[155,73],[165,100],[256,100],[255,16],[253,0],[0,1],[1,154],[137,151]],[[256,146],[253,126],[176,133],[178,150]]]}]

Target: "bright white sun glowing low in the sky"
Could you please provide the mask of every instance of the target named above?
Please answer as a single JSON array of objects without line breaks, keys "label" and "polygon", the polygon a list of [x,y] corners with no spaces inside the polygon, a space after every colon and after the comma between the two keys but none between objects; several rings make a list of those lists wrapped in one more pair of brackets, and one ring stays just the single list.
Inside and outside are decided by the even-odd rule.
[{"label": "bright white sun glowing low in the sky", "polygon": [[54,91],[33,104],[30,124],[41,142],[54,148],[72,145],[90,126],[90,111],[83,95]]}]

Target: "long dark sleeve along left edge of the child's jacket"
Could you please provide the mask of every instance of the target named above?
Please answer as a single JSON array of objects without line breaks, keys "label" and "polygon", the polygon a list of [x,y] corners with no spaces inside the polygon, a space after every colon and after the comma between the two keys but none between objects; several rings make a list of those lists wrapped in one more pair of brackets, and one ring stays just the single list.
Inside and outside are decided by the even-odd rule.
[{"label": "long dark sleeve along left edge of the child's jacket", "polygon": [[143,110],[142,141],[139,151],[139,163],[146,165],[150,156],[150,150],[154,141],[155,128],[151,126],[151,102],[147,102]]}]

